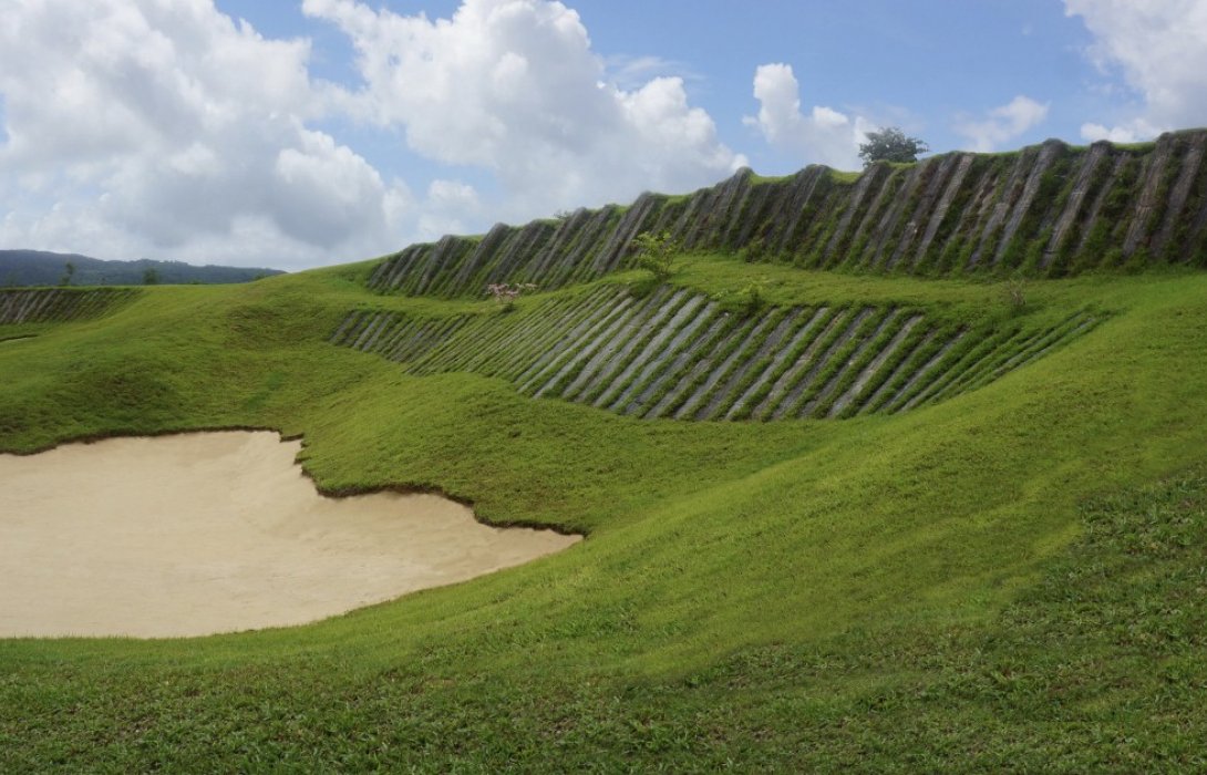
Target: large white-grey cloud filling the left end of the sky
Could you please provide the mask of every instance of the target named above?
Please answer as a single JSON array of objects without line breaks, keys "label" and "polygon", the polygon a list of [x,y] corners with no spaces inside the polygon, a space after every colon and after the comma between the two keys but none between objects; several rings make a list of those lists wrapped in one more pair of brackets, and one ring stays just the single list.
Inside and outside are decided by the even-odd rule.
[{"label": "large white-grey cloud filling the left end of the sky", "polygon": [[282,266],[368,250],[407,193],[307,128],[308,58],[209,0],[18,4],[0,30],[0,176],[17,182],[0,240]]}]

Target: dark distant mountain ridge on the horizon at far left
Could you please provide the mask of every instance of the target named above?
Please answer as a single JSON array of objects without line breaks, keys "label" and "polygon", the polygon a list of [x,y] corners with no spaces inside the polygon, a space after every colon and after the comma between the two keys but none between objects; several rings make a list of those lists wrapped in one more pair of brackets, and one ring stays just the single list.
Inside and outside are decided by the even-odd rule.
[{"label": "dark distant mountain ridge on the horizon at far left", "polygon": [[[74,272],[68,278],[68,264]],[[163,284],[250,282],[258,278],[284,274],[280,269],[246,267],[194,267],[182,261],[101,261],[76,254],[52,254],[41,250],[0,250],[0,287],[23,285],[144,285],[147,280]]]}]

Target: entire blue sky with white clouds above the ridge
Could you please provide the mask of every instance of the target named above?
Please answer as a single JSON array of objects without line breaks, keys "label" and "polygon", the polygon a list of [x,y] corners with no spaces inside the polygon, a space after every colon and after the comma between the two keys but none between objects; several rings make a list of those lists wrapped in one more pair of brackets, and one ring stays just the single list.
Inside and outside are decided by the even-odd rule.
[{"label": "entire blue sky with white clouds above the ridge", "polygon": [[742,167],[1207,126],[1201,0],[0,0],[0,249],[304,269]]}]

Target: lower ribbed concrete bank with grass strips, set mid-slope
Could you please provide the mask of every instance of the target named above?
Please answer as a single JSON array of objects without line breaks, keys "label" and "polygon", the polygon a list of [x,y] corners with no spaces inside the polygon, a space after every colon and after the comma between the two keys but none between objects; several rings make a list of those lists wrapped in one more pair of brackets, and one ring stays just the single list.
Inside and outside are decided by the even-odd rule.
[{"label": "lower ribbed concrete bank with grass strips, set mid-slope", "polygon": [[985,336],[893,308],[727,313],[664,287],[643,299],[605,286],[523,315],[418,319],[350,314],[331,342],[412,374],[474,372],[520,392],[681,420],[846,418],[902,412],[1025,366],[1094,320]]}]

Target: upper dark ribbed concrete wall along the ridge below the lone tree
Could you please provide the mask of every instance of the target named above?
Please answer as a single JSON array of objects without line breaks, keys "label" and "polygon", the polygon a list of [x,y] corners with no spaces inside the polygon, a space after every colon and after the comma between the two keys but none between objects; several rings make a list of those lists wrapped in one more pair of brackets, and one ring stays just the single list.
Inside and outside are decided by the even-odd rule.
[{"label": "upper dark ribbed concrete wall along the ridge below the lone tree", "polygon": [[875,164],[853,181],[824,167],[760,181],[742,170],[686,197],[445,237],[384,261],[373,289],[482,296],[491,282],[554,289],[632,261],[630,243],[666,229],[687,247],[748,261],[923,275],[1059,276],[1153,262],[1207,267],[1207,130],[1143,147],[1056,140],[1016,153],[949,153]]}]

